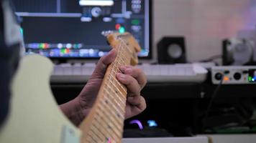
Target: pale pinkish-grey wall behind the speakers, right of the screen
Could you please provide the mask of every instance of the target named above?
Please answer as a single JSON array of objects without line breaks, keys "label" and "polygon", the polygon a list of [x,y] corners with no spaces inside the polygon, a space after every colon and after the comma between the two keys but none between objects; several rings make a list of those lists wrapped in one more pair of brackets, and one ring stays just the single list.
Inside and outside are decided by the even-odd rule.
[{"label": "pale pinkish-grey wall behind the speakers, right of the screen", "polygon": [[163,36],[185,36],[188,61],[221,54],[221,41],[255,29],[256,0],[154,0],[154,48]]}]

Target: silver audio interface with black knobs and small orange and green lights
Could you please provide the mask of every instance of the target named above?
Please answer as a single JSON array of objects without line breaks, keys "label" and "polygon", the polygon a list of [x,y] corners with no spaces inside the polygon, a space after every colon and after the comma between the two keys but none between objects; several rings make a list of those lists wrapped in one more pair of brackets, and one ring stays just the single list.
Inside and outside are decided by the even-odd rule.
[{"label": "silver audio interface with black knobs and small orange and green lights", "polygon": [[256,66],[212,66],[213,84],[256,84]]}]

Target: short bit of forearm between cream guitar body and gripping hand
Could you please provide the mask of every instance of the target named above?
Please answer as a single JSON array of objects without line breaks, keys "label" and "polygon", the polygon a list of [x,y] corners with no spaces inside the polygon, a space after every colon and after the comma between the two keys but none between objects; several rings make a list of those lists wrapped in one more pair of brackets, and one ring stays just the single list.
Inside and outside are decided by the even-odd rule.
[{"label": "short bit of forearm between cream guitar body and gripping hand", "polygon": [[70,122],[73,122],[73,124],[76,126],[78,126],[85,118],[85,114],[81,109],[78,98],[73,99],[65,104],[61,104],[60,109],[68,117],[68,119],[70,119]]}]

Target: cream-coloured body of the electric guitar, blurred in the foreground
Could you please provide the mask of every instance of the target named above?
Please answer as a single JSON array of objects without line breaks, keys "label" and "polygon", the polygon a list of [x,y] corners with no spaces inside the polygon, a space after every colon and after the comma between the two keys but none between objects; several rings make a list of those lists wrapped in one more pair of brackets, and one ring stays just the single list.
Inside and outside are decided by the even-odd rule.
[{"label": "cream-coloured body of the electric guitar, blurred in the foreground", "polygon": [[50,90],[52,67],[43,56],[21,59],[12,83],[9,117],[0,130],[1,143],[79,142],[80,130],[61,112]]}]

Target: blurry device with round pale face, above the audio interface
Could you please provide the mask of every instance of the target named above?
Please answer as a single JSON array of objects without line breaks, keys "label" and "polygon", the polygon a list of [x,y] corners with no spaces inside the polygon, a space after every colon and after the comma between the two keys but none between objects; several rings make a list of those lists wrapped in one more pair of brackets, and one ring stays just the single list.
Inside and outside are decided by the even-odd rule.
[{"label": "blurry device with round pale face, above the audio interface", "polygon": [[245,65],[253,62],[254,41],[250,39],[225,39],[222,47],[223,65]]}]

